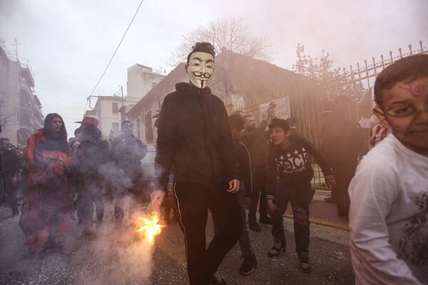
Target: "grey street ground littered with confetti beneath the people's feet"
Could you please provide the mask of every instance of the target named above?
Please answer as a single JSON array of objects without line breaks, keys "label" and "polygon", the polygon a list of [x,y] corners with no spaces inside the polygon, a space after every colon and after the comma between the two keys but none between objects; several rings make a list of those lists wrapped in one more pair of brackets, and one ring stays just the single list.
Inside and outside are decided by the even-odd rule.
[{"label": "grey street ground littered with confetti beneath the people's feet", "polygon": [[[251,232],[257,268],[248,276],[238,274],[243,259],[235,245],[219,269],[228,284],[354,284],[347,221],[337,217],[335,204],[323,202],[326,195],[317,191],[310,205],[312,272],[300,271],[292,219],[285,218],[286,254],[279,259],[267,257],[271,226],[260,224],[262,232]],[[155,245],[148,245],[131,227],[114,230],[113,204],[105,203],[98,239],[79,238],[80,229],[73,223],[60,252],[35,257],[28,257],[23,245],[19,216],[11,217],[9,208],[0,207],[0,284],[188,284],[183,234],[177,222],[163,229]],[[207,242],[213,237],[212,228],[209,217]]]}]

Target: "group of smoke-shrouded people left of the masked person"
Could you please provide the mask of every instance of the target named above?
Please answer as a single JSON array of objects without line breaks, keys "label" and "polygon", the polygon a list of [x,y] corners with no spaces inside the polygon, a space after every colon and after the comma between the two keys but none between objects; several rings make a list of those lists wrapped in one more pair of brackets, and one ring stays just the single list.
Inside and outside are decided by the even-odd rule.
[{"label": "group of smoke-shrouded people left of the masked person", "polygon": [[116,228],[123,222],[125,197],[131,198],[130,219],[135,201],[141,199],[137,192],[147,147],[133,136],[131,122],[123,121],[121,135],[112,141],[102,138],[95,118],[76,123],[81,124],[74,132],[76,138],[68,141],[61,115],[46,115],[44,128],[31,135],[22,158],[15,151],[18,147],[0,138],[1,202],[11,207],[12,215],[19,214],[17,182],[25,173],[19,227],[30,255],[61,249],[75,214],[80,238],[91,240],[102,234],[104,196],[114,199]]}]

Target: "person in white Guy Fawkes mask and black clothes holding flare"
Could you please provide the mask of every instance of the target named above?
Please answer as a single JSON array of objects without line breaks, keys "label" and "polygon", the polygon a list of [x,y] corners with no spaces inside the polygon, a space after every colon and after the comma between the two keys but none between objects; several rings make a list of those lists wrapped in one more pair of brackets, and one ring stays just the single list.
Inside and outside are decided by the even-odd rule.
[{"label": "person in white Guy Fawkes mask and black clothes holding flare", "polygon": [[[151,194],[153,210],[158,211],[173,167],[188,276],[196,285],[226,284],[216,271],[243,229],[238,198],[233,195],[240,183],[228,113],[208,88],[214,57],[210,43],[196,43],[185,66],[189,83],[177,83],[163,100],[156,143],[158,181]],[[207,248],[208,209],[217,230]]]}]

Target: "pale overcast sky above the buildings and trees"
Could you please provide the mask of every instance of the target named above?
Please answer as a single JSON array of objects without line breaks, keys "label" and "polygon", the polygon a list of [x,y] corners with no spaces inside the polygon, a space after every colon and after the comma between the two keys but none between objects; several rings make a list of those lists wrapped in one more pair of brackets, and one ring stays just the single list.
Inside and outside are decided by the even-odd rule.
[{"label": "pale overcast sky above the buildings and trees", "polygon": [[[141,0],[0,0],[0,37],[29,60],[43,113],[59,113],[68,135],[78,126],[96,86]],[[115,58],[93,95],[113,95],[135,63],[155,69],[180,36],[209,21],[241,17],[267,39],[273,61],[290,69],[297,43],[305,53],[330,52],[334,67],[428,46],[427,0],[144,0]],[[93,104],[94,105],[94,100]],[[86,108],[86,109],[85,109]]]}]

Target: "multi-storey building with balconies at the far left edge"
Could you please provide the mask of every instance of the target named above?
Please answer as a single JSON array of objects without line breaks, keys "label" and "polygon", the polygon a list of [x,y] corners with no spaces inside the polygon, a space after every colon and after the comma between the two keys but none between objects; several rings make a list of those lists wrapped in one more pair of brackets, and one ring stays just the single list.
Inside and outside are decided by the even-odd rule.
[{"label": "multi-storey building with balconies at the far left edge", "polygon": [[3,41],[0,45],[0,124],[0,136],[20,145],[26,145],[34,130],[44,124],[31,67],[11,56]]}]

